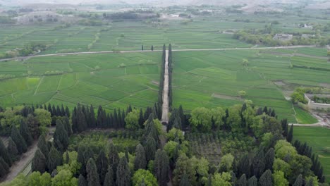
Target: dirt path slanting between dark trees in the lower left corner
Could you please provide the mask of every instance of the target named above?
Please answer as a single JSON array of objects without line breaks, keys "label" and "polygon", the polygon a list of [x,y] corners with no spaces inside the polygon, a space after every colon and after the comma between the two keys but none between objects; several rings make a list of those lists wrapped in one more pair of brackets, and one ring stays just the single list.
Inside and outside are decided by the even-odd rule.
[{"label": "dirt path slanting between dark trees in the lower left corner", "polygon": [[13,166],[9,168],[9,173],[6,176],[4,182],[13,180],[13,178],[15,178],[21,171],[23,171],[23,169],[32,161],[33,156],[35,156],[35,151],[37,151],[38,148],[37,144],[37,141],[33,142],[33,144],[28,147],[27,152],[22,154],[20,160],[13,163]]}]

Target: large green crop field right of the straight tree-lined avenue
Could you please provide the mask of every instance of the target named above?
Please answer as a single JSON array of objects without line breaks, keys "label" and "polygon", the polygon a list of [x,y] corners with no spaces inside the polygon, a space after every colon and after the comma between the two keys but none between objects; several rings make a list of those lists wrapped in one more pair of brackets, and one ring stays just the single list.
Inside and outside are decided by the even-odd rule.
[{"label": "large green crop field right of the straight tree-lined avenue", "polygon": [[[286,101],[274,82],[330,83],[329,75],[322,69],[290,67],[293,63],[330,68],[326,61],[312,57],[276,56],[257,50],[176,51],[173,56],[173,103],[182,104],[187,111],[196,106],[226,107],[248,99],[257,106],[274,108],[279,118],[288,118],[290,123],[297,122],[297,118],[300,123],[314,123],[315,119],[304,111],[298,110],[295,116],[291,102]],[[249,61],[247,66],[242,64],[243,58]],[[240,90],[246,92],[245,97],[239,96]]]}]

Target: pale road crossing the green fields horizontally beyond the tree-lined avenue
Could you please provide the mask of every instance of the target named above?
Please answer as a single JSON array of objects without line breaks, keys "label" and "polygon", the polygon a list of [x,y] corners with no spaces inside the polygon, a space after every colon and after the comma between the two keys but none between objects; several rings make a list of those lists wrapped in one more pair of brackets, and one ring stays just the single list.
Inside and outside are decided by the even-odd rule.
[{"label": "pale road crossing the green fields horizontally beyond the tree-lined avenue", "polygon": [[[259,48],[225,48],[225,49],[173,49],[172,51],[226,51],[226,50],[260,50],[260,49],[298,49],[305,47],[316,47],[315,45],[297,45],[297,46],[273,46],[273,47],[259,47]],[[154,50],[161,51],[161,50]],[[71,53],[59,53],[59,54],[41,54],[34,56],[24,56],[17,58],[4,58],[0,61],[11,61],[11,60],[22,60],[27,58],[37,58],[37,57],[47,57],[47,56],[68,56],[68,55],[78,55],[78,54],[111,54],[111,53],[132,53],[132,52],[151,52],[151,51],[81,51],[81,52],[71,52]]]}]

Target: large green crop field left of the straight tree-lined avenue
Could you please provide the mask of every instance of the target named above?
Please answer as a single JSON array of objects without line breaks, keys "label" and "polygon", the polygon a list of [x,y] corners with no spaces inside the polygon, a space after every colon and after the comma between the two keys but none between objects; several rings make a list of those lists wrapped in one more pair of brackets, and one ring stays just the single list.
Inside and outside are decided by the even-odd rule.
[{"label": "large green crop field left of the straight tree-lined avenue", "polygon": [[[17,104],[102,105],[104,109],[150,106],[157,100],[159,52],[86,54],[31,58],[0,64],[0,74],[16,78],[0,82],[1,106]],[[12,72],[6,66],[20,66]],[[4,68],[2,68],[4,66]],[[56,71],[59,74],[47,75]],[[25,75],[30,74],[29,77]]]}]

